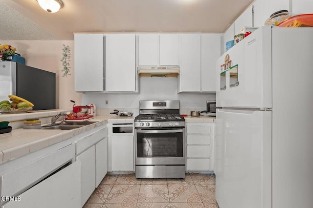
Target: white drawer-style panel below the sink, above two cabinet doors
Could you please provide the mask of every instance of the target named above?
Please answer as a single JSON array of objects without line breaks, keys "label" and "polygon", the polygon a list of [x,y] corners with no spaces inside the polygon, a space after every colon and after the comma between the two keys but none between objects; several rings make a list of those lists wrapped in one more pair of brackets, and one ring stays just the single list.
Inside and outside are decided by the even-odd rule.
[{"label": "white drawer-style panel below the sink, above two cabinet doors", "polygon": [[96,131],[93,134],[88,135],[77,141],[76,144],[76,155],[82,153],[84,150],[88,149],[90,146],[99,142],[101,139],[105,138],[107,135],[107,128],[103,128],[99,131]]}]

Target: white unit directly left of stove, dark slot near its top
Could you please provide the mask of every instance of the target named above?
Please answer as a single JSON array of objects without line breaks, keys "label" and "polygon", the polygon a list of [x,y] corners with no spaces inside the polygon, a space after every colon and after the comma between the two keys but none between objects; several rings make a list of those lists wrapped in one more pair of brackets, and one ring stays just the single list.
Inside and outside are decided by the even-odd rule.
[{"label": "white unit directly left of stove, dark slot near its top", "polygon": [[109,147],[108,171],[134,171],[133,123],[109,124]]}]

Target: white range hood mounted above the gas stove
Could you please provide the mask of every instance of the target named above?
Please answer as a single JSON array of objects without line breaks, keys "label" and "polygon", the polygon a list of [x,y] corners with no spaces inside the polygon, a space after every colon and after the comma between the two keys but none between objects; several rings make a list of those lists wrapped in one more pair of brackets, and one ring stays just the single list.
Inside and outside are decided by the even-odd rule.
[{"label": "white range hood mounted above the gas stove", "polygon": [[138,67],[140,77],[177,77],[179,67]]}]

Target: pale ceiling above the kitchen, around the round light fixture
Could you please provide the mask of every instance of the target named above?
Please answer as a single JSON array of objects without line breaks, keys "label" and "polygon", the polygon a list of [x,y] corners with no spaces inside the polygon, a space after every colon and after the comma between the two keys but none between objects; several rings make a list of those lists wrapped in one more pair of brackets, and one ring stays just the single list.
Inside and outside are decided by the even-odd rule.
[{"label": "pale ceiling above the kitchen, around the round light fixture", "polygon": [[219,32],[252,0],[0,0],[0,40],[73,40],[74,32]]}]

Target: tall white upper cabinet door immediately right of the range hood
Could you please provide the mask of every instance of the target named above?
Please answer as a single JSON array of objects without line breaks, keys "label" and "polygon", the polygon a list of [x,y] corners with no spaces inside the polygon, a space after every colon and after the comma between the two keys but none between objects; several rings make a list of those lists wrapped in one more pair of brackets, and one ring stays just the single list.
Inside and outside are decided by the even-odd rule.
[{"label": "tall white upper cabinet door immediately right of the range hood", "polygon": [[201,91],[201,35],[181,35],[180,92]]}]

